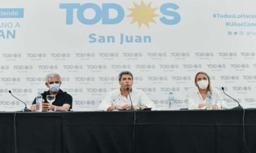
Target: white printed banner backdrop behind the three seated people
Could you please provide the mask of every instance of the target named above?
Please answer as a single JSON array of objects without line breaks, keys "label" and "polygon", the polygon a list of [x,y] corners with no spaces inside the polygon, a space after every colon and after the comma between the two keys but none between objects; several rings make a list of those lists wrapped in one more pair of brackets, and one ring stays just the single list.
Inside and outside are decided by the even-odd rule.
[{"label": "white printed banner backdrop behind the three seated people", "polygon": [[[101,9],[104,4],[118,4],[124,18],[116,24],[102,24],[100,20],[86,25],[77,18],[76,8],[72,10],[73,24],[66,24],[67,9],[60,5],[71,3],[92,3]],[[73,110],[97,110],[105,94],[119,87],[118,73],[124,70],[134,74],[134,87],[145,91],[163,110],[167,109],[169,91],[175,93],[176,108],[186,108],[186,91],[195,87],[198,71],[207,72],[214,87],[225,87],[244,108],[255,107],[255,1],[144,0],[146,5],[152,3],[149,8],[157,8],[153,11],[158,15],[153,18],[156,23],[149,22],[148,27],[131,24],[132,17],[127,16],[134,3],[141,6],[137,0],[1,1],[0,110],[24,107],[8,90],[30,106],[38,91],[47,90],[45,75],[52,72],[63,78],[61,88],[72,95]],[[167,3],[179,8],[168,8],[167,13],[172,11],[172,15],[163,13],[161,7]],[[3,18],[3,8],[23,8],[24,17]],[[79,12],[88,19],[102,15],[92,9]],[[161,22],[163,17],[177,20],[173,12],[180,16],[180,22]],[[118,11],[109,10],[109,18],[115,17]],[[10,35],[13,31],[15,36]],[[90,34],[114,36],[115,42],[90,43]],[[120,44],[120,34],[149,36],[151,42]],[[237,105],[227,97],[226,101],[230,108]]]}]

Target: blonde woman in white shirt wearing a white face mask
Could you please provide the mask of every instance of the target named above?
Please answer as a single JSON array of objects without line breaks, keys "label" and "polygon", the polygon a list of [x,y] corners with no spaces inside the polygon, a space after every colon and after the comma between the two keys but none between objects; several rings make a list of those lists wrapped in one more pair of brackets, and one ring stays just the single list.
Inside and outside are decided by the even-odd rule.
[{"label": "blonde woman in white shirt wearing a white face mask", "polygon": [[211,87],[211,80],[207,73],[198,72],[195,76],[196,89],[189,91],[187,94],[188,109],[205,109],[207,92],[211,92],[212,110],[227,108],[227,104],[223,100],[223,96],[218,89]]}]

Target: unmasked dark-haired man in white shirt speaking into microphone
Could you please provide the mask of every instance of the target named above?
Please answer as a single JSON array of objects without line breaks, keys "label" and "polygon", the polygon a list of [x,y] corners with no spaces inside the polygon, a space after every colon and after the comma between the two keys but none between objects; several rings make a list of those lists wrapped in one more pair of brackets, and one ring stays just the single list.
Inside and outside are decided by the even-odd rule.
[{"label": "unmasked dark-haired man in white shirt speaking into microphone", "polygon": [[[118,75],[120,89],[109,92],[101,101],[99,110],[129,110],[131,101],[134,110],[143,110],[145,108],[153,108],[154,103],[148,98],[145,92],[132,89],[133,76],[130,71],[122,71]],[[129,93],[131,96],[129,96]]]}]

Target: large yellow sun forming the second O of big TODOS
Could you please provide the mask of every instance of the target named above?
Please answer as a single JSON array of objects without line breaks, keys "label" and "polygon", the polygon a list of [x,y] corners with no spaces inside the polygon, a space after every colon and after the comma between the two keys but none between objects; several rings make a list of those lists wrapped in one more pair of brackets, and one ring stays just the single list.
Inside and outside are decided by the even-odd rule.
[{"label": "large yellow sun forming the second O of big TODOS", "polygon": [[127,17],[132,17],[132,22],[138,22],[139,28],[142,24],[147,25],[149,27],[149,22],[154,22],[154,17],[158,17],[159,15],[155,14],[154,11],[157,10],[157,8],[151,8],[151,3],[145,4],[143,1],[141,1],[141,4],[133,3],[135,8],[128,8],[128,10],[132,11],[130,15],[127,15]]}]

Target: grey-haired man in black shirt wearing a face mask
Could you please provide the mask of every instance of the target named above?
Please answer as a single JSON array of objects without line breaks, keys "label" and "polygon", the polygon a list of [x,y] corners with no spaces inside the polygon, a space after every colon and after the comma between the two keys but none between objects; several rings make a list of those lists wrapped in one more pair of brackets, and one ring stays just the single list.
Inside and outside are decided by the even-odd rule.
[{"label": "grey-haired man in black shirt wearing a face mask", "polygon": [[[49,91],[42,93],[43,102],[42,102],[42,111],[46,112],[49,110],[53,111],[68,111],[72,108],[72,96],[63,92],[60,89],[61,77],[57,73],[50,73],[45,77],[45,85],[49,88]],[[47,103],[46,96],[55,95],[55,101],[50,105]],[[34,99],[33,105],[31,106],[31,111],[35,112],[36,110],[36,100]]]}]

